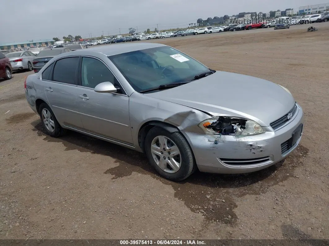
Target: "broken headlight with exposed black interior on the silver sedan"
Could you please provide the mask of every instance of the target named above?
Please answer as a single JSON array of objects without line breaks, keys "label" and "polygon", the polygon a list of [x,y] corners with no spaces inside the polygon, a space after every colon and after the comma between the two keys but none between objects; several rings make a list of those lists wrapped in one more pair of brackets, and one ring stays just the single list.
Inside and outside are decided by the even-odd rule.
[{"label": "broken headlight with exposed black interior on the silver sedan", "polygon": [[216,138],[216,135],[234,135],[237,137],[251,136],[265,132],[263,127],[248,119],[218,116],[199,123],[199,127],[207,134]]}]

